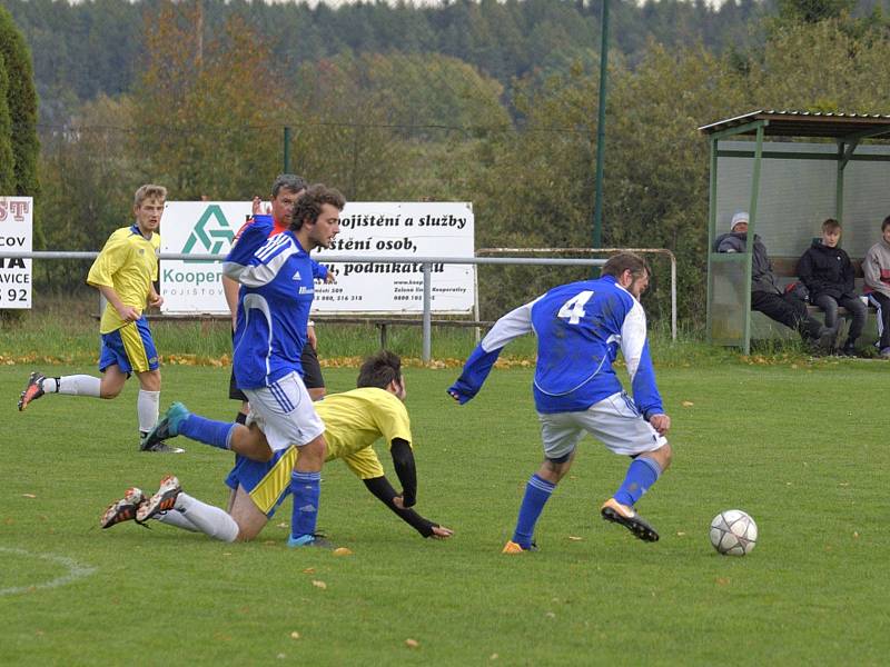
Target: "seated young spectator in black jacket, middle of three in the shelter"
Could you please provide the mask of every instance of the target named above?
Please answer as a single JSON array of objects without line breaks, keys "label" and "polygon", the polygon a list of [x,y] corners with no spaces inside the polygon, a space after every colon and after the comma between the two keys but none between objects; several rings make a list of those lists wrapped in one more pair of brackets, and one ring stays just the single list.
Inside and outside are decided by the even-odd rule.
[{"label": "seated young spectator in black jacket, middle of three in the shelter", "polygon": [[822,238],[813,240],[798,262],[798,276],[810,290],[810,302],[825,311],[825,326],[838,321],[838,306],[853,316],[850,334],[840,352],[856,356],[856,339],[862,335],[868,308],[856,293],[856,271],[850,256],[838,248],[841,223],[829,218],[822,222]]}]

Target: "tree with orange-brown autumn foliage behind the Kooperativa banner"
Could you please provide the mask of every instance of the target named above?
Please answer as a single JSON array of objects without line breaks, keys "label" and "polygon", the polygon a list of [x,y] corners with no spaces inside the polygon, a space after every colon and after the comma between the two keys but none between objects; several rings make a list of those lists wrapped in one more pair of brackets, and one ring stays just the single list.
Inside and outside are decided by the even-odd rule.
[{"label": "tree with orange-brown autumn foliage behind the Kooperativa banner", "polygon": [[287,91],[265,40],[236,16],[196,34],[200,7],[161,2],[146,17],[147,63],[134,96],[142,179],[176,198],[249,198],[281,170]]}]

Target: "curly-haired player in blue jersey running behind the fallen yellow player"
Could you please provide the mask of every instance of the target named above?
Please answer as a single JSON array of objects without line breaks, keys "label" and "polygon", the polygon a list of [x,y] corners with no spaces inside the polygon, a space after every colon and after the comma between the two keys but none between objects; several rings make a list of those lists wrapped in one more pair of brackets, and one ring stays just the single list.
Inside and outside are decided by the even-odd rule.
[{"label": "curly-haired player in blue jersey running behind the fallen yellow player", "polygon": [[222,265],[241,285],[233,367],[250,402],[248,425],[205,419],[174,404],[146,437],[150,445],[182,435],[258,461],[298,447],[290,481],[291,546],[322,544],[315,525],[325,427],[300,377],[300,354],[315,293],[309,251],[330,246],[344,206],[337,190],[312,186],[297,200],[287,231],[269,237],[271,217],[258,216]]}]

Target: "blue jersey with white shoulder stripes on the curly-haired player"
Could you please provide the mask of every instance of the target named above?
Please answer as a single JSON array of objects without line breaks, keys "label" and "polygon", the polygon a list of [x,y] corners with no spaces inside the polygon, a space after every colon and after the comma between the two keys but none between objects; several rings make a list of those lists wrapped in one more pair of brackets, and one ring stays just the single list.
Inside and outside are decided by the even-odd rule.
[{"label": "blue jersey with white shoulder stripes on the curly-haired player", "polygon": [[[268,387],[290,372],[303,375],[300,354],[315,296],[309,253],[290,231],[270,238],[265,221],[241,238],[222,265],[241,283],[233,369],[241,389]],[[251,252],[251,250],[254,250]]]}]

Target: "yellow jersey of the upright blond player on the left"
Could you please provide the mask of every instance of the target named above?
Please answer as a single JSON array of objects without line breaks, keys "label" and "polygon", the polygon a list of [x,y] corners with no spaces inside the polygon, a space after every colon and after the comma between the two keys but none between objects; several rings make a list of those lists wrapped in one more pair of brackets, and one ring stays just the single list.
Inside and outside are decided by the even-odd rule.
[{"label": "yellow jersey of the upright blond player on the left", "polygon": [[[160,236],[146,239],[136,225],[116,230],[92,262],[87,283],[111,287],[125,306],[146,309],[151,282],[158,279]],[[100,334],[120,329],[125,323],[111,303],[107,303],[99,325]]]}]

